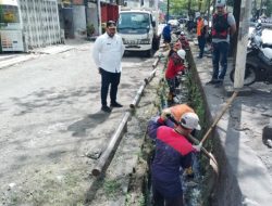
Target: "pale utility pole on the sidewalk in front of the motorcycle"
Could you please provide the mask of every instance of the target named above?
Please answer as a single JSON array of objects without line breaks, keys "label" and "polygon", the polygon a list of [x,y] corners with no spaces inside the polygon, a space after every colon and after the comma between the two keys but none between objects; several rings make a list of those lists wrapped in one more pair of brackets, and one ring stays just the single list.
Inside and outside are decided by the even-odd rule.
[{"label": "pale utility pole on the sidewalk in front of the motorcycle", "polygon": [[244,86],[251,5],[252,5],[252,0],[242,0],[240,2],[238,42],[237,42],[237,52],[235,59],[236,61],[235,77],[234,77],[235,89],[240,89]]}]

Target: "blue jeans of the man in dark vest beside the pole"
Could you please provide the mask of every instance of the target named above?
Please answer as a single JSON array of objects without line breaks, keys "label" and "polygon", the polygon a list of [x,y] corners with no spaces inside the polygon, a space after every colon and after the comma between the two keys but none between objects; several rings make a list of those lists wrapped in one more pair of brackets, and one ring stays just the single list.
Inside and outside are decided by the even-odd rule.
[{"label": "blue jeans of the man in dark vest beside the pole", "polygon": [[[212,43],[212,66],[213,66],[213,75],[212,79],[223,80],[225,77],[226,68],[227,68],[227,52],[228,52],[228,43],[218,42]],[[219,63],[221,65],[221,70],[219,70]]]}]

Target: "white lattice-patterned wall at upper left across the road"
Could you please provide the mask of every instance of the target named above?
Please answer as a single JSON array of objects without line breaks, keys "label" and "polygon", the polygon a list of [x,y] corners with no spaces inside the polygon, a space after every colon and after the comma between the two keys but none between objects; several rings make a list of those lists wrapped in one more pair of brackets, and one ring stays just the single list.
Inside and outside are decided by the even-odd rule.
[{"label": "white lattice-patterned wall at upper left across the road", "polygon": [[20,0],[18,3],[28,48],[61,42],[57,0]]}]

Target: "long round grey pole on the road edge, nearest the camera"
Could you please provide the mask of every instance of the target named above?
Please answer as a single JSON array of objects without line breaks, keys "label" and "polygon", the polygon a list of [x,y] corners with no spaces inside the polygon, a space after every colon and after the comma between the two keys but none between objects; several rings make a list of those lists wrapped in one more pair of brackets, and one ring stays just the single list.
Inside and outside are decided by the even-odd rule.
[{"label": "long round grey pole on the road edge, nearest the camera", "polygon": [[120,123],[118,129],[115,130],[115,132],[111,137],[111,140],[110,140],[110,143],[108,144],[108,147],[102,153],[101,157],[99,158],[99,162],[97,163],[97,165],[92,169],[91,173],[94,176],[99,176],[103,170],[107,169],[107,166],[112,160],[112,156],[115,153],[115,150],[119,146],[120,141],[123,138],[123,133],[127,129],[126,128],[127,127],[127,120],[129,119],[131,115],[132,114],[129,112],[125,113],[125,115],[124,115],[122,121]]}]

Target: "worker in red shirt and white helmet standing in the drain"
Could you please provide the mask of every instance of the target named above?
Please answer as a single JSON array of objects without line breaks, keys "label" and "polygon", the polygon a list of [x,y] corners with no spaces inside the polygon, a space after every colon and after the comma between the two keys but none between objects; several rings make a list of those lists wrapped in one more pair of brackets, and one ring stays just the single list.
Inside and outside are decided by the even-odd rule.
[{"label": "worker in red shirt and white helmet standing in the drain", "polygon": [[175,88],[180,86],[177,76],[185,70],[185,55],[186,52],[183,49],[180,49],[177,52],[172,52],[169,56],[168,68],[165,72],[165,79],[169,85],[169,102],[173,102],[175,96]]}]

